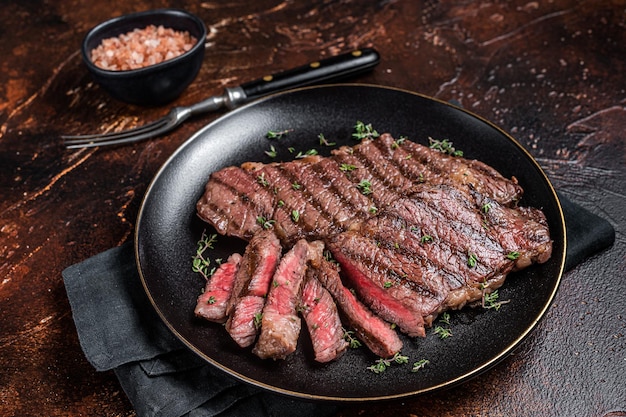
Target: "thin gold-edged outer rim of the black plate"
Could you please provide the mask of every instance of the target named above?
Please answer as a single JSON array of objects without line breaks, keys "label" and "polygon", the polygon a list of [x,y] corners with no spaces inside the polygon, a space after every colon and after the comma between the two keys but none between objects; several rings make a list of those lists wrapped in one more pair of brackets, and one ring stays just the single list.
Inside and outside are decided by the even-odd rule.
[{"label": "thin gold-edged outer rim of the black plate", "polygon": [[[223,123],[224,120],[227,120],[231,117],[236,117],[237,114],[241,113],[241,112],[245,112],[247,109],[251,108],[251,107],[255,107],[255,106],[259,106],[262,105],[264,102],[266,101],[270,101],[272,99],[275,99],[276,97],[281,97],[281,96],[285,96],[285,95],[293,95],[294,93],[298,93],[300,91],[304,91],[304,90],[323,90],[323,89],[328,89],[328,88],[343,88],[343,87],[349,87],[349,88],[370,88],[370,89],[381,89],[381,90],[389,90],[389,91],[393,91],[393,92],[398,92],[398,93],[403,93],[403,94],[409,94],[409,95],[414,95],[417,97],[420,97],[422,99],[426,99],[429,101],[433,101],[433,102],[437,102],[440,104],[443,104],[445,106],[448,107],[452,107],[458,111],[461,111],[483,123],[485,123],[486,125],[488,125],[490,128],[498,131],[500,134],[502,134],[503,136],[505,136],[507,138],[507,140],[509,140],[512,144],[514,144],[524,155],[525,159],[529,162],[531,162],[535,169],[537,170],[537,172],[541,175],[541,177],[543,178],[543,180],[545,181],[545,184],[548,186],[548,189],[550,190],[553,202],[556,204],[556,208],[557,208],[557,212],[558,212],[558,223],[560,225],[561,230],[563,231],[563,234],[561,236],[562,239],[562,251],[560,251],[559,254],[561,259],[560,259],[560,265],[558,266],[558,274],[556,277],[556,281],[554,283],[553,288],[550,291],[549,297],[547,298],[545,304],[543,305],[542,309],[537,312],[537,314],[535,315],[535,317],[533,318],[532,322],[526,327],[526,329],[524,329],[524,331],[519,334],[508,346],[506,346],[506,348],[502,349],[497,355],[495,355],[494,357],[490,358],[489,360],[487,360],[485,363],[483,363],[482,365],[478,366],[478,367],[474,367],[471,370],[463,373],[462,375],[457,376],[456,378],[447,380],[445,382],[436,384],[436,385],[432,385],[429,386],[427,388],[422,388],[422,389],[418,389],[418,390],[412,390],[412,391],[408,391],[408,392],[403,392],[403,393],[398,393],[398,394],[391,394],[391,395],[380,395],[380,396],[355,396],[355,397],[337,397],[337,396],[327,396],[327,395],[318,395],[318,394],[310,394],[310,393],[302,393],[302,392],[296,392],[296,391],[291,391],[288,389],[284,389],[284,388],[280,388],[280,387],[275,387],[271,384],[267,384],[261,381],[258,381],[254,378],[251,378],[249,376],[243,375],[240,372],[237,372],[233,369],[230,369],[228,367],[226,367],[225,365],[222,365],[221,363],[219,363],[218,361],[208,357],[206,354],[204,354],[203,352],[200,351],[200,349],[196,346],[194,346],[191,342],[189,342],[173,325],[172,323],[169,322],[169,320],[165,317],[163,311],[161,310],[161,308],[157,305],[155,299],[153,298],[149,288],[148,288],[148,284],[146,282],[145,276],[143,274],[143,270],[141,267],[141,256],[140,256],[140,248],[139,248],[139,233],[138,231],[140,230],[140,226],[142,224],[143,221],[143,217],[144,217],[144,210],[146,208],[146,204],[147,201],[149,200],[149,198],[151,197],[151,194],[153,193],[155,184],[157,183],[157,181],[160,179],[160,177],[162,175],[164,175],[164,173],[167,171],[168,167],[171,165],[171,162],[173,160],[175,160],[179,154],[181,154],[184,149],[186,149],[187,147],[189,147],[192,143],[194,143],[196,140],[199,140],[199,138],[202,138],[204,133],[208,130],[211,130],[213,128],[213,126],[218,125],[220,123]],[[554,240],[554,238],[553,238]],[[510,356],[510,354],[516,349],[518,348],[522,342],[536,329],[537,325],[539,324],[539,322],[545,317],[547,311],[549,310],[549,308],[551,307],[551,305],[554,302],[554,298],[556,296],[556,293],[561,285],[561,281],[563,278],[563,274],[565,271],[565,258],[566,258],[566,253],[567,253],[567,233],[566,233],[566,224],[565,224],[565,217],[564,217],[564,213],[563,213],[563,207],[561,204],[561,201],[558,197],[558,193],[556,192],[552,182],[550,181],[549,177],[547,176],[546,172],[544,171],[544,169],[539,165],[539,162],[530,154],[530,152],[521,145],[521,143],[515,139],[511,134],[509,134],[508,132],[506,132],[504,129],[502,129],[501,127],[499,127],[498,125],[496,125],[495,123],[491,122],[490,120],[470,111],[465,109],[464,107],[461,107],[459,105],[456,105],[454,103],[450,103],[444,100],[441,100],[439,98],[436,97],[432,97],[432,96],[428,96],[425,95],[423,93],[419,93],[419,92],[415,92],[415,91],[411,91],[408,89],[403,89],[403,88],[398,88],[398,87],[390,87],[390,86],[383,86],[383,85],[378,85],[378,84],[369,84],[369,83],[333,83],[333,84],[324,84],[324,85],[314,85],[314,86],[307,86],[307,87],[300,87],[300,88],[295,88],[295,89],[290,89],[290,90],[286,90],[286,91],[282,91],[282,92],[278,92],[278,93],[274,93],[265,97],[261,97],[259,99],[253,100],[249,103],[246,103],[245,105],[242,105],[240,107],[237,107],[233,110],[228,111],[227,113],[220,115],[219,117],[217,117],[216,119],[214,119],[213,121],[205,124],[204,126],[200,127],[198,130],[196,130],[194,133],[191,134],[191,136],[186,139],[183,143],[181,143],[175,150],[174,152],[172,152],[172,154],[165,160],[165,162],[159,167],[159,169],[157,170],[157,172],[154,174],[152,180],[150,181],[148,187],[146,188],[146,191],[143,195],[143,198],[141,200],[141,205],[140,205],[140,209],[137,215],[137,220],[135,223],[135,228],[134,228],[134,237],[133,237],[133,246],[134,246],[134,255],[135,255],[135,261],[136,261],[136,268],[139,274],[139,278],[141,280],[141,284],[142,287],[144,289],[145,294],[147,295],[147,297],[150,300],[150,304],[152,305],[152,307],[155,309],[155,311],[157,312],[159,318],[161,319],[161,321],[166,325],[166,327],[176,336],[176,338],[181,341],[187,348],[189,348],[191,351],[193,351],[195,354],[197,354],[198,356],[200,356],[203,360],[205,360],[206,362],[208,362],[209,364],[211,364],[212,366],[217,367],[218,369],[220,369],[221,371],[225,372],[228,375],[231,375],[243,382],[246,382],[248,384],[251,384],[253,386],[259,387],[259,388],[263,388],[269,392],[273,392],[273,393],[278,393],[278,394],[283,394],[283,395],[287,395],[289,397],[293,397],[293,398],[299,398],[299,399],[303,399],[303,400],[309,400],[309,401],[322,401],[322,402],[334,402],[334,403],[354,403],[354,402],[378,402],[378,401],[386,401],[386,400],[397,400],[397,399],[406,399],[406,398],[410,398],[410,397],[416,397],[419,395],[423,395],[426,393],[432,393],[435,391],[441,391],[444,389],[449,389],[458,385],[461,385],[462,383],[465,383],[475,377],[478,377],[479,375],[485,373],[486,371],[492,369],[495,365],[497,365],[498,363],[500,363],[502,360],[504,360],[505,358],[507,358],[508,356]],[[552,256],[554,256],[554,254],[552,254]]]}]

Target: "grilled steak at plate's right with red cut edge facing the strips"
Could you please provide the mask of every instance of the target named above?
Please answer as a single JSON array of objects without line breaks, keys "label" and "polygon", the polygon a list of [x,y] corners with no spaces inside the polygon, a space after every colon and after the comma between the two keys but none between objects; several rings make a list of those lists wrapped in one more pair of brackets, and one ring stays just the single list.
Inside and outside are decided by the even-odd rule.
[{"label": "grilled steak at plate's right with red cut edge facing the strips", "polygon": [[406,309],[429,324],[502,285],[514,268],[547,260],[551,241],[539,210],[438,185],[330,237],[328,248],[360,297],[410,334],[403,328]]}]

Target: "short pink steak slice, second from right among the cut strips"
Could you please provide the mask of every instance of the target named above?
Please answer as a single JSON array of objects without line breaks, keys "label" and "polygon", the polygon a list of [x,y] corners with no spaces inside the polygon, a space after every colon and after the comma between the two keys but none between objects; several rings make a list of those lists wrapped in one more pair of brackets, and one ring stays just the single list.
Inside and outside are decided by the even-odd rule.
[{"label": "short pink steak slice, second from right among the cut strips", "polygon": [[315,360],[330,362],[345,352],[348,342],[343,338],[337,306],[316,275],[313,268],[307,269],[300,311],[313,342]]}]

